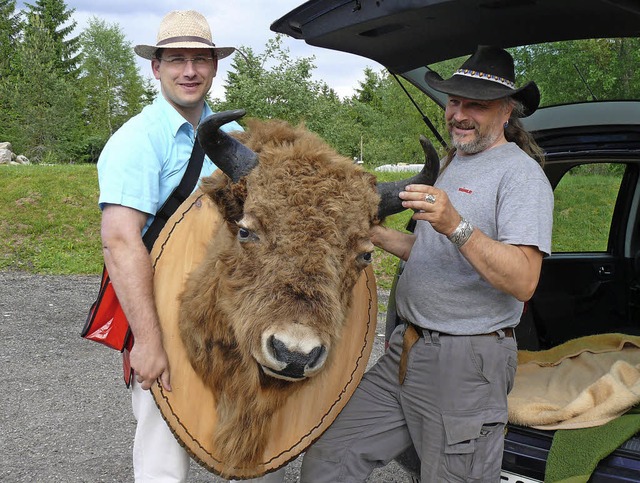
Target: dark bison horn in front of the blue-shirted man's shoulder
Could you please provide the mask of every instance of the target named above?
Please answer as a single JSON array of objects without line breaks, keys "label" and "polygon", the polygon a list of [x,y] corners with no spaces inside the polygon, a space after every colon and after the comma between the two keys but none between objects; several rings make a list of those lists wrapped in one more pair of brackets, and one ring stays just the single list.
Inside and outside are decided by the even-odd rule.
[{"label": "dark bison horn in front of the blue-shirted man's shoulder", "polygon": [[208,116],[198,127],[198,139],[204,152],[234,183],[255,168],[258,155],[220,127],[244,115],[244,109],[219,112]]}]

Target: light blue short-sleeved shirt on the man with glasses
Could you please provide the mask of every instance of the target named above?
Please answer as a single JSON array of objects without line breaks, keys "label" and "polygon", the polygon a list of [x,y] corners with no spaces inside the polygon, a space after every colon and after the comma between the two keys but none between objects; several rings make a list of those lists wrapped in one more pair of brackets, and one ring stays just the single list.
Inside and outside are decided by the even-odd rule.
[{"label": "light blue short-sleeved shirt on the man with glasses", "polygon": [[[213,112],[205,104],[200,121]],[[241,131],[237,122],[224,131]],[[159,95],[111,136],[98,160],[100,209],[122,205],[148,213],[146,228],[187,169],[195,131],[191,123]],[[200,177],[216,169],[205,156]],[[144,231],[144,230],[143,230]]]}]

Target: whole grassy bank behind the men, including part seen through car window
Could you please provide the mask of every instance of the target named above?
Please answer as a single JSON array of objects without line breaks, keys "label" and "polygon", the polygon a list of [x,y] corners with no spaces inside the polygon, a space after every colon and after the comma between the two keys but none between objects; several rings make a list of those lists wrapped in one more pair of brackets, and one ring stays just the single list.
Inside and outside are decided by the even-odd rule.
[{"label": "whole grassy bank behind the men, including part seen through car window", "polygon": [[[406,173],[376,173],[379,181]],[[565,176],[556,189],[553,249],[604,251],[620,176]],[[100,211],[95,165],[0,167],[0,270],[99,274]],[[385,224],[403,230],[404,211]],[[389,288],[398,259],[376,249],[378,285]]]}]

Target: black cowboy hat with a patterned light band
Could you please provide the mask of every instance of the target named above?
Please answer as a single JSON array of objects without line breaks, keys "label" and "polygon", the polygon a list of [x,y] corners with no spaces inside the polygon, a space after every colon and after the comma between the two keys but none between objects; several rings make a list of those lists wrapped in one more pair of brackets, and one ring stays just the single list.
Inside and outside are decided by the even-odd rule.
[{"label": "black cowboy hat with a patterned light band", "polygon": [[466,99],[492,101],[513,97],[524,107],[522,117],[535,112],[540,104],[540,91],[530,81],[516,89],[513,57],[500,47],[480,45],[449,79],[430,71],[424,76],[433,89]]}]

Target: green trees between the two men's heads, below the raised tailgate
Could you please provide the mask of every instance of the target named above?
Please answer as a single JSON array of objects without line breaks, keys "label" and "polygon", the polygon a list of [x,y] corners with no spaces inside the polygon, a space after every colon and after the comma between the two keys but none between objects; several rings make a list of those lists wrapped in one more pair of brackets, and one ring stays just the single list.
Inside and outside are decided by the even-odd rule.
[{"label": "green trees between the two men's heads, below the raised tailgate", "polygon": [[[214,100],[214,110],[244,108],[251,117],[304,122],[338,152],[362,158],[368,167],[420,163],[424,154],[418,137],[425,125],[393,77],[365,70],[351,99],[341,100],[322,82],[312,79],[312,57],[292,59],[282,38],[270,39],[264,52],[240,48],[225,82],[226,98]],[[413,86],[407,89],[424,104],[434,123],[442,125],[442,110]]]}]

